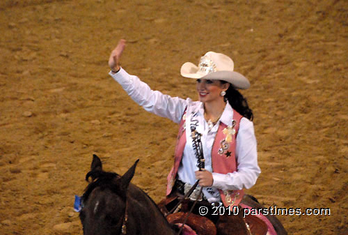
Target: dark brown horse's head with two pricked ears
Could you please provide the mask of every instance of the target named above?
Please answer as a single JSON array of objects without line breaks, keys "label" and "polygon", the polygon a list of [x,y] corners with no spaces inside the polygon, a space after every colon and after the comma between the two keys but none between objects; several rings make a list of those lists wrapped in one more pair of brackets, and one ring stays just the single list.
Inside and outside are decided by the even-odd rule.
[{"label": "dark brown horse's head with two pricked ears", "polygon": [[100,158],[93,155],[90,172],[86,174],[86,181],[90,178],[92,181],[81,197],[80,220],[84,235],[125,233],[127,189],[138,161],[120,176],[113,172],[104,172]]}]

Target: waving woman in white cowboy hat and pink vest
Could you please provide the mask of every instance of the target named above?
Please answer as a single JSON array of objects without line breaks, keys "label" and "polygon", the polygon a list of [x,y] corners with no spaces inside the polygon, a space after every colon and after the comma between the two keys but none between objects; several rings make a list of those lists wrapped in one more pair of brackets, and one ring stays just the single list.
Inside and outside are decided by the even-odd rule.
[{"label": "waving woman in white cowboy hat and pink vest", "polygon": [[[236,90],[248,89],[248,79],[233,71],[228,56],[207,52],[198,66],[187,62],[181,68],[183,77],[196,79],[199,101],[172,98],[120,68],[124,49],[125,40],[120,40],[111,52],[111,77],[145,110],[180,124],[167,195],[173,186],[183,194],[198,180],[204,200],[238,205],[243,188],[251,188],[260,174],[253,114]],[[191,198],[199,197],[198,192],[199,187]]]}]

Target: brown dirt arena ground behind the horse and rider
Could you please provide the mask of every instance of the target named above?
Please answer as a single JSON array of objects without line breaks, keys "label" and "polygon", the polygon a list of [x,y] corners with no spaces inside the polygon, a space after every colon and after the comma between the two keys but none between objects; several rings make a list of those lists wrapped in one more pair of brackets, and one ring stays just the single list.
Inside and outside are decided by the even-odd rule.
[{"label": "brown dirt arena ground behind the horse and rider", "polygon": [[122,66],[152,89],[196,99],[180,66],[212,50],[251,81],[264,206],[289,234],[348,234],[348,1],[3,0],[0,3],[0,234],[82,234],[93,153],[164,197],[177,125],[138,107],[108,75]]}]

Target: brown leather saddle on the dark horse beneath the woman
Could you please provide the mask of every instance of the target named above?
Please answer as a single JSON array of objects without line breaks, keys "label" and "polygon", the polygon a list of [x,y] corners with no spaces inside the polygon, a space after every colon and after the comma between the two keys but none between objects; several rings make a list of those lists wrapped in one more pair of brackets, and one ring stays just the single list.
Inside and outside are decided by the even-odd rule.
[{"label": "brown leather saddle on the dark horse beneath the woman", "polygon": [[[177,196],[166,197],[158,206],[164,215],[167,215],[168,209],[171,209],[173,204],[177,203]],[[200,206],[198,202],[198,206]],[[267,225],[260,219],[253,215],[242,215],[242,209],[238,215],[220,215],[216,221],[212,221],[205,216],[197,215],[195,213],[189,214],[189,204],[191,201],[185,199],[182,203],[180,212],[167,215],[167,220],[171,224],[182,224],[187,218],[186,225],[189,225],[198,235],[266,235]],[[207,202],[204,204],[205,206]],[[211,206],[211,205],[209,205]],[[189,214],[189,215],[188,215]],[[180,225],[179,225],[180,226]]]}]

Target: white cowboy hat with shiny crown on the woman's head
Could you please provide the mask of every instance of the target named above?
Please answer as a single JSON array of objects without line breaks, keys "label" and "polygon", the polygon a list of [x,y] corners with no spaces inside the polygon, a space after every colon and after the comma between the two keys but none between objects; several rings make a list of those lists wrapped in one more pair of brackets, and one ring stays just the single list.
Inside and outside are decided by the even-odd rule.
[{"label": "white cowboy hat with shiny crown on the woman's head", "polygon": [[226,54],[207,52],[200,57],[198,66],[186,62],[181,66],[182,77],[195,79],[214,79],[230,82],[236,89],[248,89],[250,82],[246,77],[233,71],[234,63]]}]

